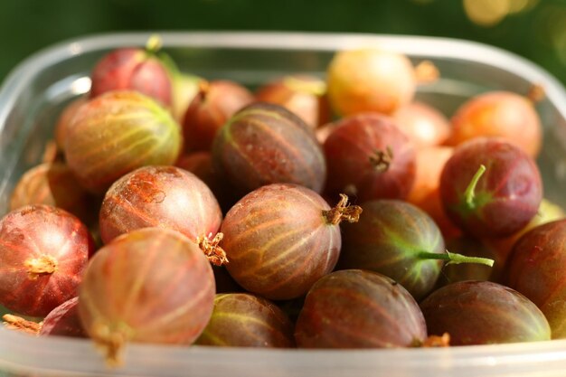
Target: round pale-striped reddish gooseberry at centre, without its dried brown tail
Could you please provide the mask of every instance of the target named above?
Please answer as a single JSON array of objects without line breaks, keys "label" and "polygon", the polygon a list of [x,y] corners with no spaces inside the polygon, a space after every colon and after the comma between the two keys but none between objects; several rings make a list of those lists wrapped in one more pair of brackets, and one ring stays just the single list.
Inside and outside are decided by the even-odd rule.
[{"label": "round pale-striped reddish gooseberry at centre, without its dried brown tail", "polygon": [[306,187],[269,184],[244,196],[226,214],[221,246],[232,278],[269,299],[289,299],[334,269],[340,228],[325,220],[325,200]]}]

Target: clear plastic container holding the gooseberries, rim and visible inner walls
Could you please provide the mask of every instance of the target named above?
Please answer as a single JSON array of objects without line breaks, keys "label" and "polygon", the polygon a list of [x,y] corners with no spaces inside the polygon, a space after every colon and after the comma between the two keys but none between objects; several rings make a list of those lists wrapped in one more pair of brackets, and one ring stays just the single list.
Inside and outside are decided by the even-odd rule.
[{"label": "clear plastic container holding the gooseberries, rim and visible inner walls", "polygon": [[[540,84],[544,124],[539,163],[545,195],[566,206],[566,93],[551,75],[511,53],[438,38],[367,34],[161,33],[182,71],[250,87],[287,72],[324,75],[336,50],[382,46],[441,72],[418,97],[448,116],[486,90],[526,93]],[[0,90],[0,213],[14,182],[41,159],[54,119],[68,100],[90,88],[95,61],[113,48],[144,45],[148,33],[108,34],[63,42],[38,52]],[[566,376],[566,340],[442,349],[258,350],[130,344],[125,365],[108,369],[88,340],[34,338],[0,328],[0,376]]]}]

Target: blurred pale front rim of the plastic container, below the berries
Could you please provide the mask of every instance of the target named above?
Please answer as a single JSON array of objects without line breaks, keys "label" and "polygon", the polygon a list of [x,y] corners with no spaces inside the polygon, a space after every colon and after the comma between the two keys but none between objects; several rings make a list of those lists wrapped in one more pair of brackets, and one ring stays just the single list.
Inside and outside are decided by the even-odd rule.
[{"label": "blurred pale front rim of the plastic container, below the berries", "polygon": [[[267,375],[269,368],[287,372],[329,372],[336,367],[351,371],[349,375],[396,375],[395,370],[409,375],[439,371],[460,371],[470,367],[506,372],[566,372],[566,340],[524,344],[475,345],[427,349],[380,350],[294,350],[264,348],[227,348],[206,346],[174,346],[128,344],[125,365],[108,368],[102,354],[88,340],[60,337],[33,338],[0,329],[0,371],[45,372],[61,375],[90,373],[113,376],[162,375],[167,364],[172,370],[167,376],[183,376],[186,371],[199,369],[191,375],[212,375],[231,372],[236,375]],[[69,356],[72,355],[72,358]],[[10,357],[12,356],[12,357]],[[57,360],[66,363],[57,363]],[[376,369],[379,366],[379,369]],[[253,367],[253,368],[250,368]],[[175,368],[175,370],[173,370]],[[176,371],[176,372],[175,372]],[[215,371],[215,372],[214,372]],[[479,371],[478,371],[479,372]],[[499,371],[503,372],[503,371]],[[370,373],[370,374],[368,374]],[[413,374],[414,373],[414,374]],[[422,373],[422,374],[420,374]],[[498,374],[498,375],[507,375]],[[513,375],[513,374],[510,374]],[[547,374],[545,374],[547,375]],[[563,375],[563,374],[562,374]]]}]

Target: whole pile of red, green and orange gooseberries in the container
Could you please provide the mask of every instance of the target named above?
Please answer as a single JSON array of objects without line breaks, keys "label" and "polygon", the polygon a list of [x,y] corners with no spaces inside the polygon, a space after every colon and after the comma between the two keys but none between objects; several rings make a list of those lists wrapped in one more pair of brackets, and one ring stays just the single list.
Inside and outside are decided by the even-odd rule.
[{"label": "whole pile of red, green and orange gooseberries in the container", "polygon": [[[441,74],[441,72],[440,72]],[[566,220],[533,99],[451,119],[379,49],[259,88],[108,52],[0,220],[5,325],[128,343],[385,348],[566,337]]]}]

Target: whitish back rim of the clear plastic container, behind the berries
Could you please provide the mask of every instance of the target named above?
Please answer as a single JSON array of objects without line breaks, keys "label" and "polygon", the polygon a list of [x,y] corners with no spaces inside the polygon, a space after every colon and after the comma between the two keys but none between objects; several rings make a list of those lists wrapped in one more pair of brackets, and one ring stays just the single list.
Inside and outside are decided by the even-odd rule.
[{"label": "whitish back rim of the clear plastic container, behind the berries", "polygon": [[327,51],[376,47],[416,56],[474,61],[509,71],[529,82],[541,85],[546,97],[566,119],[566,92],[561,82],[540,66],[523,57],[480,42],[445,37],[389,35],[369,33],[301,32],[124,32],[96,33],[53,44],[33,53],[8,73],[0,88],[0,132],[14,101],[44,67],[85,52],[131,45],[145,45],[158,34],[167,47],[207,47],[259,50]]}]

